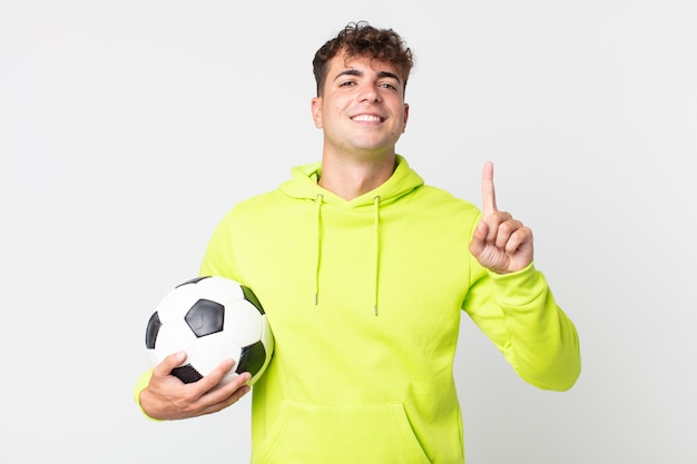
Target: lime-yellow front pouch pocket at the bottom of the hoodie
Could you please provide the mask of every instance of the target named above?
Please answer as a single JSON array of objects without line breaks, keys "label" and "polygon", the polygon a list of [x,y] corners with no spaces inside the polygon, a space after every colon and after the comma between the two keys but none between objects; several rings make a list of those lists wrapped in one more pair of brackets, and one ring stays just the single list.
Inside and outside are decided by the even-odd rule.
[{"label": "lime-yellow front pouch pocket at the bottom of the hoodie", "polygon": [[401,403],[311,406],[284,403],[255,451],[262,464],[429,464]]}]

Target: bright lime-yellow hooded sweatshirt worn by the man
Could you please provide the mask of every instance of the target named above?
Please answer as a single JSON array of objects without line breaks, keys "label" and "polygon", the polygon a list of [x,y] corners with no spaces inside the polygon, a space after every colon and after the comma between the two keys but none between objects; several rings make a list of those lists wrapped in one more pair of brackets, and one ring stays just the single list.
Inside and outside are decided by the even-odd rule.
[{"label": "bright lime-yellow hooded sweatshirt worn by the man", "polygon": [[530,384],[563,391],[580,373],[542,274],[482,268],[469,253],[480,210],[397,161],[350,201],[317,185],[320,164],[294,168],[214,231],[200,274],[249,286],[275,337],[253,388],[255,464],[463,463],[462,310]]}]

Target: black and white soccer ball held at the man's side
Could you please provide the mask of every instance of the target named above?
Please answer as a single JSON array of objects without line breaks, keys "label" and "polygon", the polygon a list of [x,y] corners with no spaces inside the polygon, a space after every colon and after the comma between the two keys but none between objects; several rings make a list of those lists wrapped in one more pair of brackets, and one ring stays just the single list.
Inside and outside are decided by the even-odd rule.
[{"label": "black and white soccer ball held at the man's side", "polygon": [[175,352],[186,352],[186,361],[171,372],[184,383],[197,382],[223,359],[234,358],[236,364],[222,383],[248,372],[253,385],[271,361],[274,337],[251,288],[207,276],[165,295],[148,320],[145,345],[154,366]]}]

